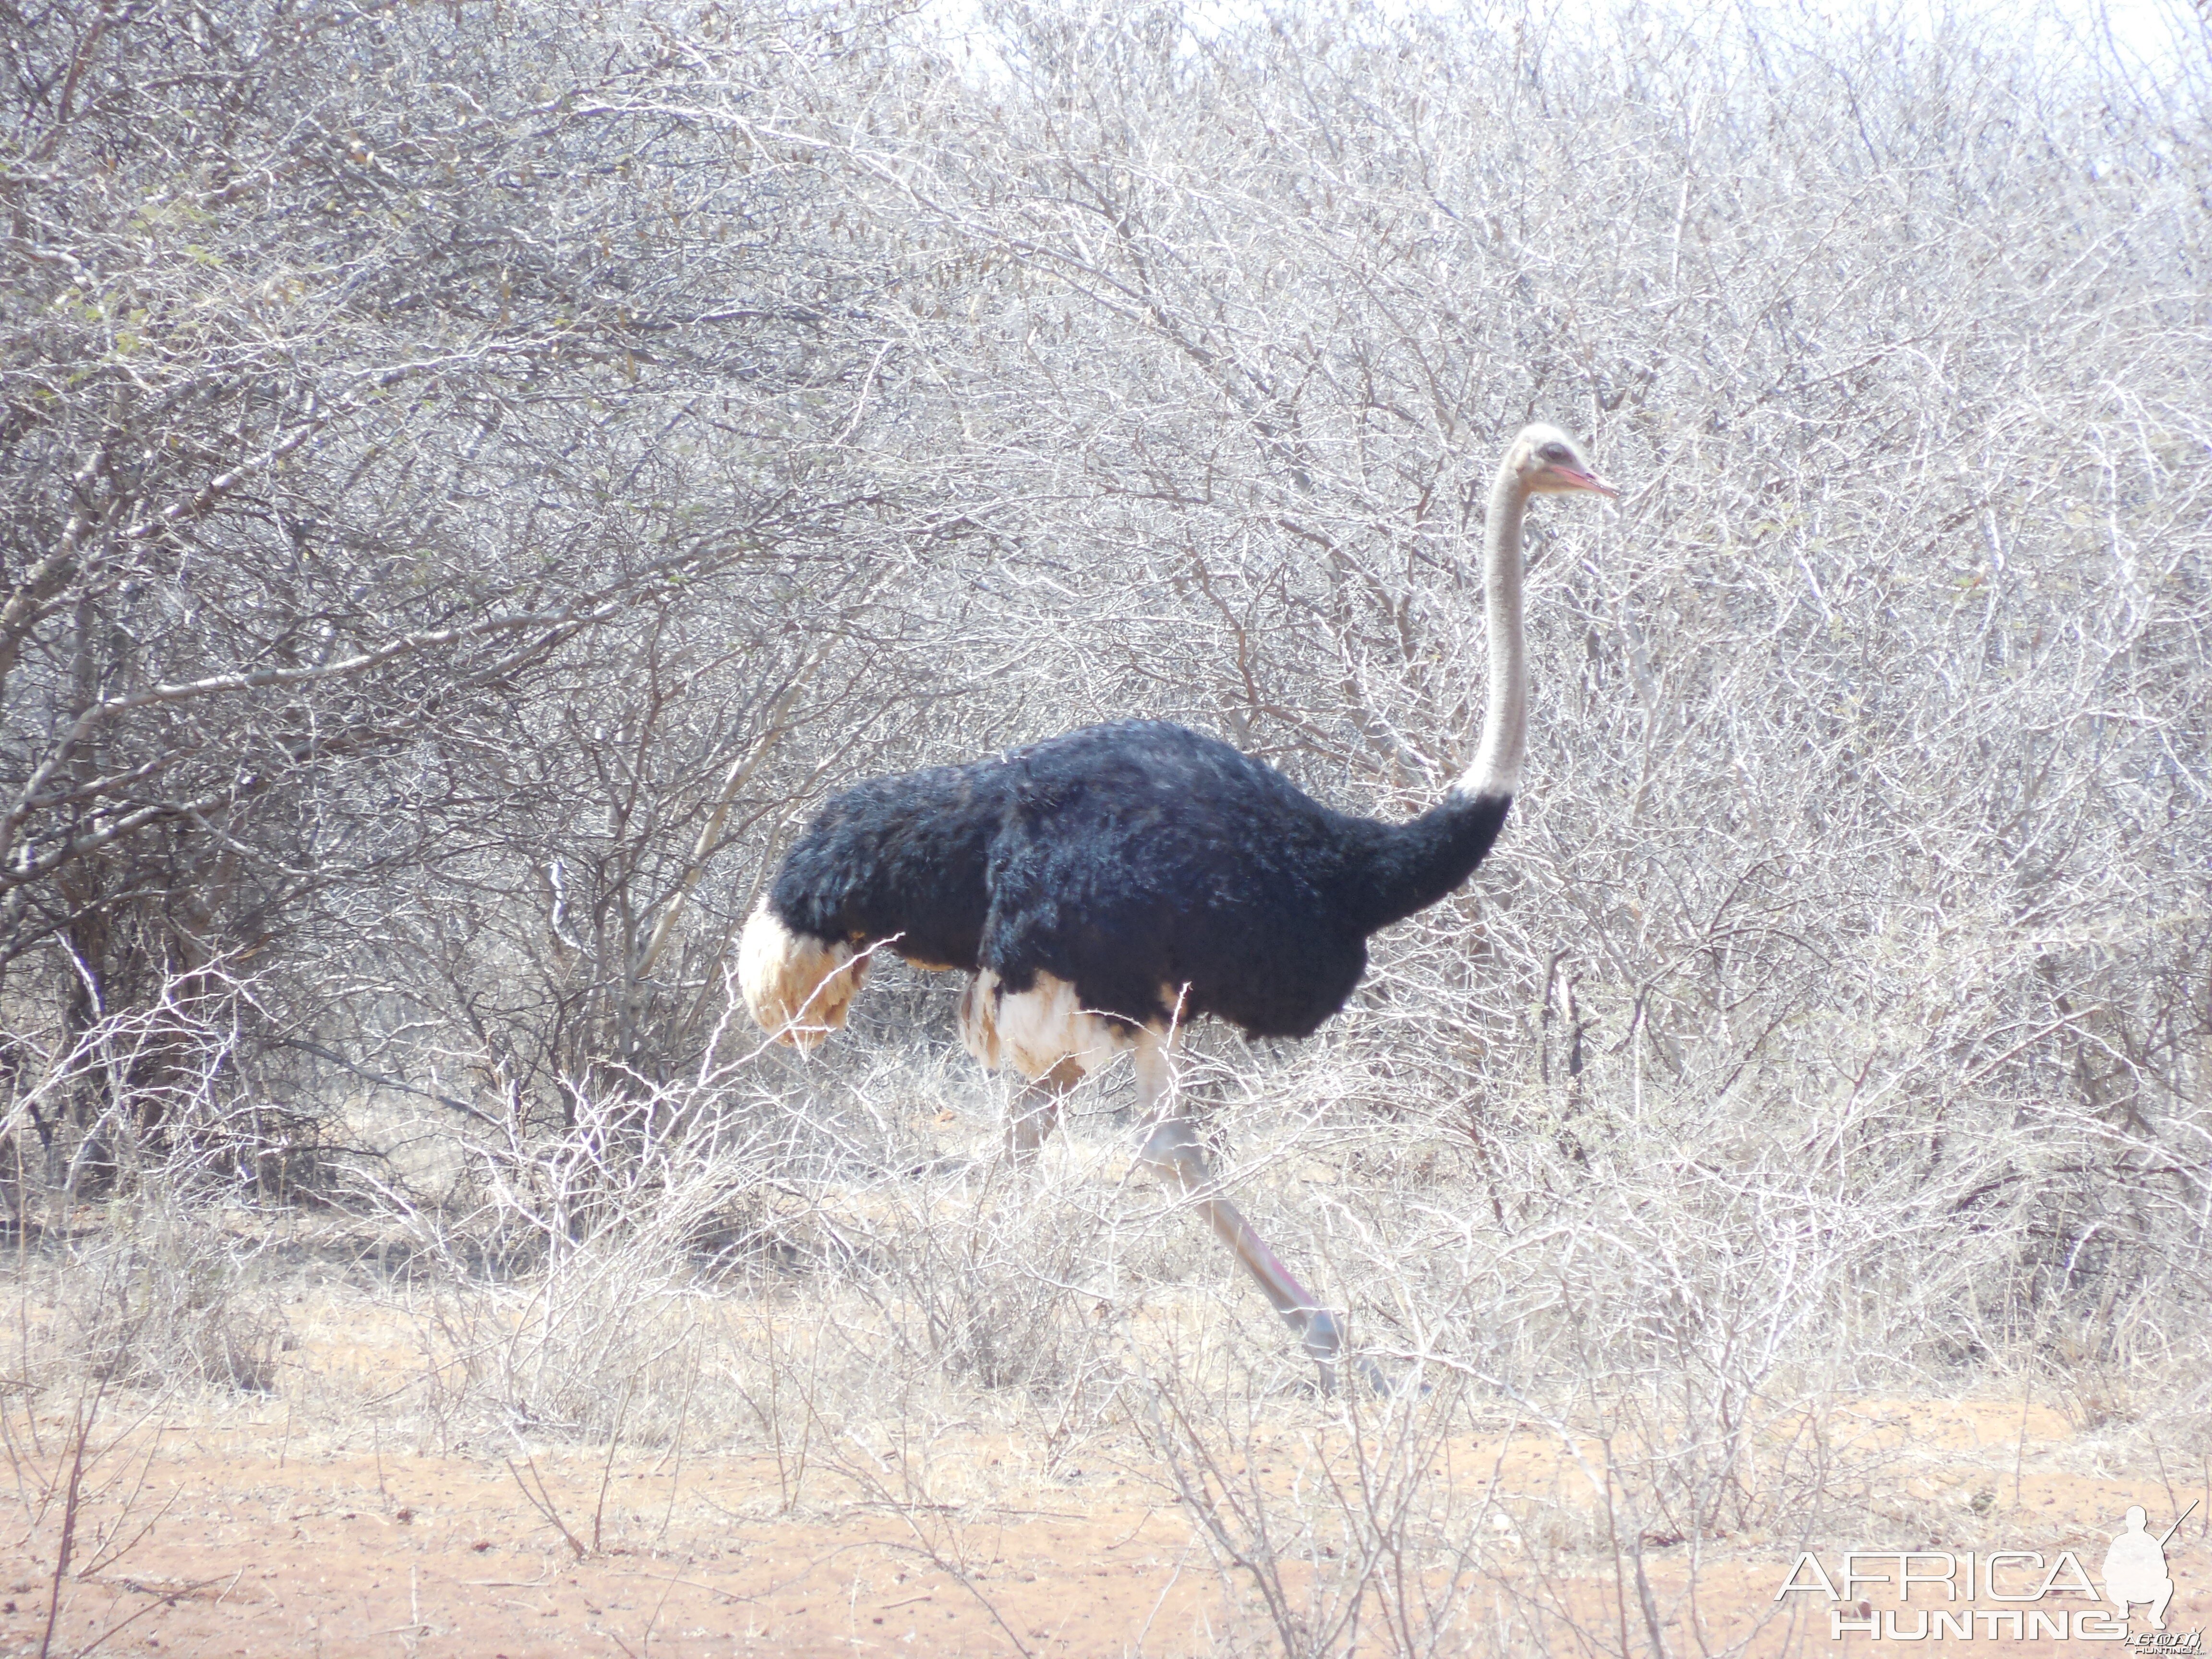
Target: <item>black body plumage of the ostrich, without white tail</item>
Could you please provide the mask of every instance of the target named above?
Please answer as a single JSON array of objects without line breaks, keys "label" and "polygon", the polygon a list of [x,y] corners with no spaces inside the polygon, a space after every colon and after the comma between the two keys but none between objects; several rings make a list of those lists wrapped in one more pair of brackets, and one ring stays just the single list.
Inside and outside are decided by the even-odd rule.
[{"label": "black body plumage of the ostrich, without white tail", "polygon": [[[836,796],[768,905],[796,933],[925,967],[1037,973],[1137,1024],[1212,1013],[1303,1037],[1367,969],[1367,936],[1473,872],[1511,796],[1409,823],[1334,812],[1181,726],[1117,721]],[[1166,989],[1166,1000],[1164,1000]]]}]

